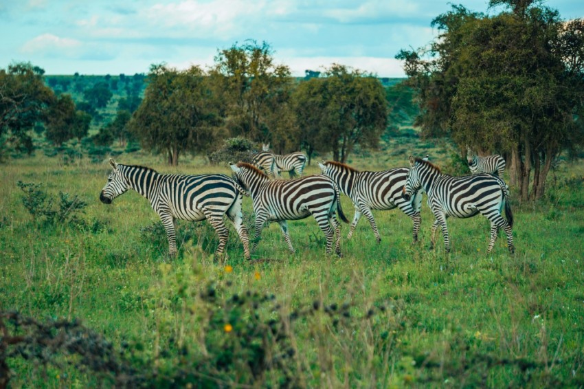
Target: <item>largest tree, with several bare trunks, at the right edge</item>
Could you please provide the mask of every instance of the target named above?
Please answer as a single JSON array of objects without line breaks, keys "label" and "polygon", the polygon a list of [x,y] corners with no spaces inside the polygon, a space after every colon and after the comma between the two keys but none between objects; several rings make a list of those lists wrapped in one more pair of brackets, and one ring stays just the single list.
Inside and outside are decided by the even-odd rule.
[{"label": "largest tree, with several bare trunks, at the right edge", "polygon": [[432,21],[429,49],[396,56],[418,91],[423,135],[507,155],[522,201],[540,199],[553,159],[584,143],[584,24],[538,4],[491,0],[506,7],[494,16],[453,6]]}]

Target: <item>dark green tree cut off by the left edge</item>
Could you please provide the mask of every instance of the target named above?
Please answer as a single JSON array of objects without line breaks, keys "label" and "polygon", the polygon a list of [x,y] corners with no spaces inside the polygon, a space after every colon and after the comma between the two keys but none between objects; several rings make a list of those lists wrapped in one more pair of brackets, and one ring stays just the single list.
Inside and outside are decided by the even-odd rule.
[{"label": "dark green tree cut off by the left edge", "polygon": [[43,82],[44,70],[30,63],[14,63],[0,69],[0,143],[11,142],[31,153],[32,130],[40,122],[53,91]]}]

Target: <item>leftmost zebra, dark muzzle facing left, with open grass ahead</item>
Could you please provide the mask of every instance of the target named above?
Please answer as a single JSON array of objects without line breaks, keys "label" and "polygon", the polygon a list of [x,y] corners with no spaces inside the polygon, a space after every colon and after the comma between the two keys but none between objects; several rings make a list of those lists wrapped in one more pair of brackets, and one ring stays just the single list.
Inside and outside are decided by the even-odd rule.
[{"label": "leftmost zebra, dark muzzle facing left, with open grass ahead", "polygon": [[249,238],[241,214],[246,192],[233,179],[226,175],[163,175],[144,166],[116,164],[113,159],[109,164],[113,171],[100,193],[102,203],[110,204],[130,188],[150,200],[166,229],[170,255],[177,254],[177,219],[207,219],[219,235],[216,256],[221,257],[229,235],[223,222],[223,215],[227,215],[243,243],[245,258],[250,258]]}]

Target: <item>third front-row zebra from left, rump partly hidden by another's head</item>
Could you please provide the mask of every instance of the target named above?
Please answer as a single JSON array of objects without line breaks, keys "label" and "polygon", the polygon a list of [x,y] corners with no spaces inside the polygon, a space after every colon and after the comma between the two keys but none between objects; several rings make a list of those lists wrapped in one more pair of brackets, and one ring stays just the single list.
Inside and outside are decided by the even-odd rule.
[{"label": "third front-row zebra from left, rump partly hidden by another's head", "polygon": [[361,214],[365,215],[377,243],[381,242],[381,236],[371,210],[392,210],[399,208],[414,222],[414,242],[418,241],[420,230],[420,208],[422,205],[422,192],[418,190],[412,201],[406,201],[402,195],[405,185],[405,177],[408,168],[394,168],[381,172],[361,172],[340,162],[324,162],[318,166],[322,174],[330,177],[339,186],[341,192],[350,197],[355,205],[355,217],[351,223],[347,239],[350,239]]}]

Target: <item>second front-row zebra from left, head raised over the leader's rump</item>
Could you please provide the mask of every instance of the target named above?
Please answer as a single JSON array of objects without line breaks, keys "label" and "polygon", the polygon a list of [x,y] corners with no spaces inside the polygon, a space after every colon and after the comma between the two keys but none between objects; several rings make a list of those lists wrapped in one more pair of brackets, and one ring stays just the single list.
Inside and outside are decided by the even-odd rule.
[{"label": "second front-row zebra from left, head raised over the leader's rump", "polygon": [[[326,254],[333,247],[335,233],[337,240],[335,252],[341,256],[341,228],[335,211],[348,223],[341,209],[341,194],[335,182],[324,175],[311,175],[290,181],[270,180],[265,173],[251,164],[238,162],[230,165],[238,184],[251,194],[256,213],[256,235],[251,252],[256,251],[266,221],[280,224],[284,240],[291,252],[294,252],[287,220],[304,219],[313,215],[318,226],[326,236]],[[330,227],[333,225],[333,228]]]}]

